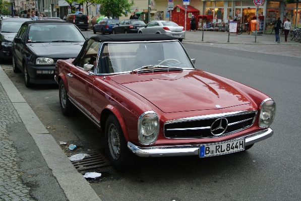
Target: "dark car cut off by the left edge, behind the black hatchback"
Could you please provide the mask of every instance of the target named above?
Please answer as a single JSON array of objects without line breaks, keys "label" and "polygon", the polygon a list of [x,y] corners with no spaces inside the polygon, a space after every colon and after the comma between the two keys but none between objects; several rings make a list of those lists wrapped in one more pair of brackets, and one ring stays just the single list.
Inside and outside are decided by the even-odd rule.
[{"label": "dark car cut off by the left edge, behind the black hatchback", "polygon": [[13,40],[22,24],[32,21],[27,18],[7,18],[0,20],[0,59],[12,59]]}]

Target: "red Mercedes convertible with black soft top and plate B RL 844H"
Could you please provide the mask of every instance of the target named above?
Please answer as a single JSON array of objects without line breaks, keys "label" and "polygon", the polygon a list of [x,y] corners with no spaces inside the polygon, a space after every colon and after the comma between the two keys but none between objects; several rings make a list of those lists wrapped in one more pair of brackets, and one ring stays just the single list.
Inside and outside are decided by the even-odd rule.
[{"label": "red Mercedes convertible with black soft top and plate B RL 844H", "polygon": [[74,107],[105,135],[110,161],[218,156],[273,135],[267,95],[195,68],[183,45],[161,34],[94,36],[75,59],[58,60],[62,112]]}]

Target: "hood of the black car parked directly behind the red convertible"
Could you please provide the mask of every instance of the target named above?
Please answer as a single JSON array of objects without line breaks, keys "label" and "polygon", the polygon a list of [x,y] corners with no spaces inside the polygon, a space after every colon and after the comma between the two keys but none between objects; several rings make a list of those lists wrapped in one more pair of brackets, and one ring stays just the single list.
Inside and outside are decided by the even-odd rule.
[{"label": "hood of the black car parked directly behind the red convertible", "polygon": [[84,42],[28,43],[28,47],[38,56],[53,58],[75,58]]}]

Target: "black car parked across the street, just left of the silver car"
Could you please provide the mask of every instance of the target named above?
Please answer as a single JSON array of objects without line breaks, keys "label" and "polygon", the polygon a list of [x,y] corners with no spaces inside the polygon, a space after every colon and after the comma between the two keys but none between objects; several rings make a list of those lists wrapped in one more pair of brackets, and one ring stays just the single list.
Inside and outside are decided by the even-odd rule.
[{"label": "black car parked across the street, just left of the silver car", "polygon": [[113,27],[112,34],[117,33],[138,33],[145,23],[142,20],[122,20],[118,25]]}]

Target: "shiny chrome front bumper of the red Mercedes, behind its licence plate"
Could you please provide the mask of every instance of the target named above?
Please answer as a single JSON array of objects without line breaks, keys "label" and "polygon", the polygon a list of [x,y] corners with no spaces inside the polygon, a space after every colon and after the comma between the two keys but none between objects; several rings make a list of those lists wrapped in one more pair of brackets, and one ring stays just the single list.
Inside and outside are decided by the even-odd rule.
[{"label": "shiny chrome front bumper of the red Mercedes, behind its licence plate", "polygon": [[[252,145],[259,141],[270,138],[273,135],[273,130],[267,128],[264,130],[256,130],[249,132],[243,136],[238,136],[237,138],[232,138],[227,141],[232,141],[236,139],[245,139],[245,146]],[[222,143],[227,142],[222,141]],[[212,144],[212,143],[208,143]],[[157,147],[138,147],[133,143],[128,142],[128,148],[134,154],[140,157],[166,157],[166,156],[191,156],[199,155],[200,146],[206,144],[194,144],[194,145],[174,145],[174,146],[157,146]]]}]

